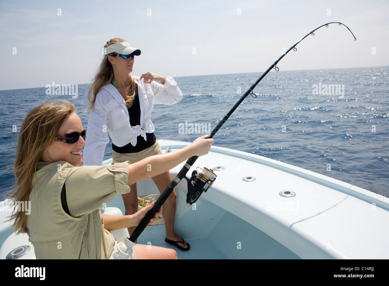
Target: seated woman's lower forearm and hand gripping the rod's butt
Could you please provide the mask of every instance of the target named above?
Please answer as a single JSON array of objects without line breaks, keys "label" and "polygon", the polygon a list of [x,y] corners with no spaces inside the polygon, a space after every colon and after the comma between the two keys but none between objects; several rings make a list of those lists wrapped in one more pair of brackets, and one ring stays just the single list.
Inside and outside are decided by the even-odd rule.
[{"label": "seated woman's lower forearm and hand gripping the rod's butt", "polygon": [[[147,205],[146,207],[135,212],[135,214],[130,214],[128,216],[109,216],[107,214],[102,214],[104,219],[104,228],[108,231],[112,230],[121,230],[123,228],[128,228],[131,226],[137,226],[142,218],[144,218],[146,212],[152,209],[154,203]],[[161,214],[162,208],[150,219],[150,224],[154,223],[158,216]]]}]

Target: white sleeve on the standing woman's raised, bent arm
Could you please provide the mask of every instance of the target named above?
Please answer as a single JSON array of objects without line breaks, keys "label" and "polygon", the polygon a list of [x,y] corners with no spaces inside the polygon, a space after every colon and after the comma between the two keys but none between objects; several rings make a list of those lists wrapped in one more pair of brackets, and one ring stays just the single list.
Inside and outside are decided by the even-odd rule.
[{"label": "white sleeve on the standing woman's raised, bent arm", "polygon": [[154,104],[172,105],[182,99],[182,92],[173,77],[166,76],[165,84],[152,81],[151,88],[154,93]]}]

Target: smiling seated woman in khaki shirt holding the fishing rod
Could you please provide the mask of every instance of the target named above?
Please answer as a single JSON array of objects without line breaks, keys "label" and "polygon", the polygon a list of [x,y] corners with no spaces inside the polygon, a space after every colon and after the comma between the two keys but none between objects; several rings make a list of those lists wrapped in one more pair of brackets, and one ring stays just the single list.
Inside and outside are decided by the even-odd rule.
[{"label": "smiling seated woman in khaki shirt holding the fishing rod", "polygon": [[[67,100],[33,108],[20,128],[14,167],[17,186],[11,198],[30,200],[31,213],[15,212],[11,219],[16,233],[28,233],[37,259],[109,259],[115,244],[109,231],[137,226],[153,205],[127,216],[104,215],[100,207],[116,194],[128,193],[137,181],[207,154],[214,142],[202,136],[180,150],[133,164],[74,167],[82,163],[85,135],[74,105]],[[177,253],[137,244],[130,258],[177,258]]]}]

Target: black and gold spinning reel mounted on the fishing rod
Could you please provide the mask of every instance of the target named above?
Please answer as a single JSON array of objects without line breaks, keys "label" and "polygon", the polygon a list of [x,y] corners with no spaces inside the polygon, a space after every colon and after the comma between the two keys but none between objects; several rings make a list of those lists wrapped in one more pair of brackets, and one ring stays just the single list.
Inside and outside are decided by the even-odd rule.
[{"label": "black and gold spinning reel mounted on the fishing rod", "polygon": [[191,205],[204,192],[206,192],[210,186],[216,180],[217,175],[212,172],[209,168],[205,168],[198,174],[196,170],[192,172],[192,176],[188,179],[184,177],[188,183],[188,192],[186,194],[186,204]]}]

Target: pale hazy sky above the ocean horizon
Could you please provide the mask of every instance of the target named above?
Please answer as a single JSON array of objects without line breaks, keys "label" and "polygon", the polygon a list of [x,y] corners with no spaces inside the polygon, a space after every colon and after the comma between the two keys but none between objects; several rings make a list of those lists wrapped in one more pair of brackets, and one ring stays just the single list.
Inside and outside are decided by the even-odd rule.
[{"label": "pale hazy sky above the ocean horizon", "polygon": [[0,1],[0,89],[89,83],[113,37],[142,50],[136,75],[265,71],[282,47],[333,21],[357,41],[343,26],[323,27],[280,70],[389,65],[388,8],[387,1]]}]

